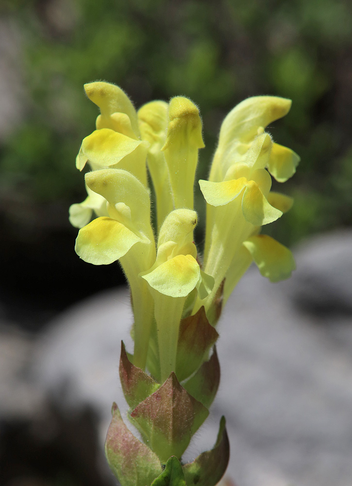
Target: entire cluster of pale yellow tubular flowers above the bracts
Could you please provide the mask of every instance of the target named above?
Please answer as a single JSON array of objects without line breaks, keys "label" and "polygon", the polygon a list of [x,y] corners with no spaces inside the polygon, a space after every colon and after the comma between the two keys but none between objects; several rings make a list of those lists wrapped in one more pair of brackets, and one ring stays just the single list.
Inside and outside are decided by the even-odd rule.
[{"label": "entire cluster of pale yellow tubular flowers above the bracts", "polygon": [[201,258],[193,241],[194,179],[204,147],[198,107],[175,97],[135,111],[113,84],[84,89],[100,114],[76,159],[80,171],[90,168],[87,198],[69,210],[71,224],[80,228],[76,252],[94,265],[119,260],[132,294],[133,363],[165,382],[176,372],[183,319],[205,311],[215,326],[219,300],[228,299],[251,262],[272,282],[295,269],[290,250],[261,234],[293,202],[271,191],[271,176],[285,182],[300,158],[265,131],[288,113],[291,101],[248,98],[222,122],[209,179],[199,181],[206,201]]}]

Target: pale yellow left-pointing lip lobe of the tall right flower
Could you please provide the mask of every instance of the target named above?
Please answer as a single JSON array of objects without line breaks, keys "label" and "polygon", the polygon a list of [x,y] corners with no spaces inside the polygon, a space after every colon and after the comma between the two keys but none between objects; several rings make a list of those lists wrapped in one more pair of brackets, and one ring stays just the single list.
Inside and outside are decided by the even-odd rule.
[{"label": "pale yellow left-pointing lip lobe of the tall right flower", "polygon": [[223,206],[233,201],[247,184],[248,180],[245,177],[224,182],[199,181],[203,196],[211,206]]}]

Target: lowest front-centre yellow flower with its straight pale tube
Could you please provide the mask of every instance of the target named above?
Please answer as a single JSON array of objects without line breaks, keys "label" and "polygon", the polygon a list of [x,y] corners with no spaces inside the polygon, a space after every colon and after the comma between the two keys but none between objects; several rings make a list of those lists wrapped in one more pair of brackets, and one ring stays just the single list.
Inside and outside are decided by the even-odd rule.
[{"label": "lowest front-centre yellow flower with its straight pale tube", "polygon": [[193,229],[197,213],[175,209],[161,226],[158,253],[153,266],[141,273],[154,299],[161,380],[176,369],[179,325],[186,297],[196,289],[200,299],[212,290],[214,279],[206,275],[196,260]]}]

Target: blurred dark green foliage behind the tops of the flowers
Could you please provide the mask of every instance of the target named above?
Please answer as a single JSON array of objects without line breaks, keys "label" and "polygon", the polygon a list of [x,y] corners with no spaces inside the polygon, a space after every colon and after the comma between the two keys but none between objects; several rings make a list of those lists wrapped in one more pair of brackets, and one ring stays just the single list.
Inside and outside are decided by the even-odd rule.
[{"label": "blurred dark green foliage behind the tops of the flowers", "polygon": [[74,161],[97,115],[85,82],[114,82],[137,107],[190,97],[203,117],[201,177],[227,112],[247,96],[273,94],[293,105],[269,131],[302,162],[282,189],[295,205],[272,233],[291,244],[351,225],[347,0],[3,0],[0,15],[17,24],[27,93],[26,116],[1,147],[4,194],[35,207],[85,197]]}]

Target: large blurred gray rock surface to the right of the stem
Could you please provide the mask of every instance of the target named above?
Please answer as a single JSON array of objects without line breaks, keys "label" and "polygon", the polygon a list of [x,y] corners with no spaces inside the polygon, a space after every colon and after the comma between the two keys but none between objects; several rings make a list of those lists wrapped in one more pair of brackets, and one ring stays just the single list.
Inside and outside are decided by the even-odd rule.
[{"label": "large blurred gray rock surface to the right of the stem", "polygon": [[253,269],[220,324],[215,412],[228,419],[228,472],[242,486],[345,486],[352,475],[351,350],[337,346],[318,318],[297,312],[283,292],[289,285],[270,284]]}]

